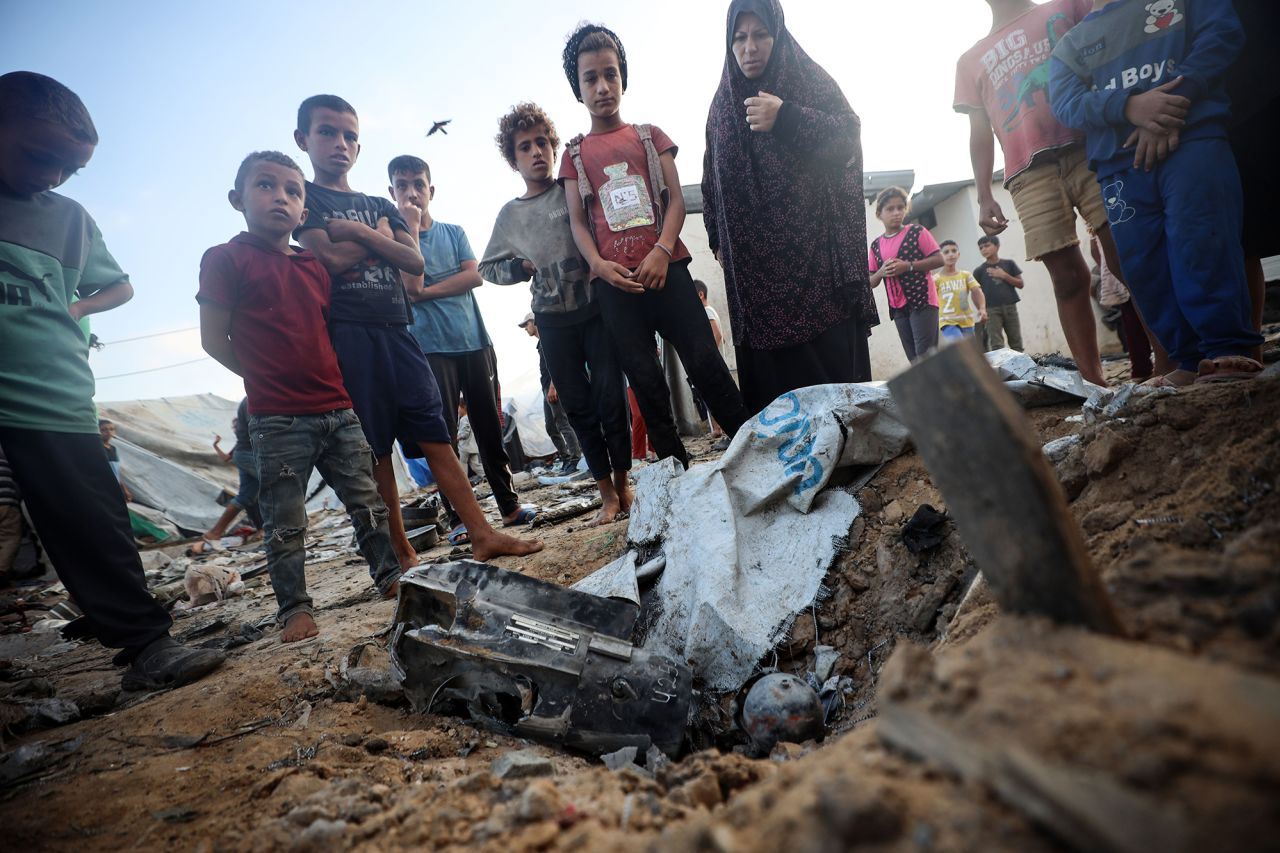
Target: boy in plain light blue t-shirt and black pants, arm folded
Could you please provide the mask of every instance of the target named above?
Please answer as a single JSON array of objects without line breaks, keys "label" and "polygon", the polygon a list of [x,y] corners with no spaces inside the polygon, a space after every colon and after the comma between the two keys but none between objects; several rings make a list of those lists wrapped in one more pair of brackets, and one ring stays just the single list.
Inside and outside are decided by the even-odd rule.
[{"label": "boy in plain light blue t-shirt and black pants, arm folded", "polygon": [[[426,355],[431,373],[440,387],[440,397],[456,401],[458,394],[467,403],[471,432],[476,438],[485,479],[498,502],[503,524],[532,521],[534,507],[521,506],[511,476],[511,461],[502,444],[502,420],[498,416],[498,362],[493,343],[485,332],[480,306],[472,292],[483,279],[476,256],[461,225],[431,219],[430,205],[435,197],[431,168],[425,160],[402,155],[387,167],[389,191],[401,210],[419,211],[417,242],[422,250],[422,275],[406,273],[411,292],[413,324],[410,333]],[[412,213],[410,214],[412,215]],[[458,418],[454,406],[444,406],[444,423],[454,444]],[[465,528],[453,507],[445,501],[449,540],[462,540]]]}]

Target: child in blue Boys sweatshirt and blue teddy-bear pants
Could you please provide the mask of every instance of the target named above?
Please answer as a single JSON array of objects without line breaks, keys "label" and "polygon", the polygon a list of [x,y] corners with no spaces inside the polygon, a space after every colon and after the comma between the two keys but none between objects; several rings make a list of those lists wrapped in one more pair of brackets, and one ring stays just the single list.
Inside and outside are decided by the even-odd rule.
[{"label": "child in blue Boys sweatshirt and blue teddy-bear pants", "polygon": [[1087,134],[1130,291],[1178,366],[1156,384],[1262,370],[1226,141],[1243,44],[1230,0],[1094,0],[1050,60],[1053,113]]}]

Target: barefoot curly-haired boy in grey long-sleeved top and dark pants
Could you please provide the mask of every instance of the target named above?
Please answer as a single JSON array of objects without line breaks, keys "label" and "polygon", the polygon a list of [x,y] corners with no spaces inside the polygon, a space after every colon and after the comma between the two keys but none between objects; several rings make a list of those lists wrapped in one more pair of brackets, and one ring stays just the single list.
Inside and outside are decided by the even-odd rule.
[{"label": "barefoot curly-haired boy in grey long-sleeved top and dark pants", "polygon": [[593,524],[607,524],[631,507],[631,432],[618,356],[553,178],[559,136],[540,106],[517,104],[498,120],[497,142],[525,193],[498,213],[480,274],[497,284],[532,282],[543,357],[600,489]]}]

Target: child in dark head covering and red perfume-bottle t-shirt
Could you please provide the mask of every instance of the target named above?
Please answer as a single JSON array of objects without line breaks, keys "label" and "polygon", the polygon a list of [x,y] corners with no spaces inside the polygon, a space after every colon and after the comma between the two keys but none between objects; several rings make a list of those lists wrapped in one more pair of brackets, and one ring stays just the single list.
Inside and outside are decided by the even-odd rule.
[{"label": "child in dark head covering and red perfume-bottle t-shirt", "polygon": [[676,347],[726,433],[733,435],[748,412],[716,347],[689,274],[691,256],[680,241],[685,199],[676,143],[655,126],[622,120],[627,58],[616,33],[582,24],[562,59],[573,95],[591,115],[590,132],[570,142],[559,170],[573,242],[586,260],[654,450],[687,466],[654,334]]}]

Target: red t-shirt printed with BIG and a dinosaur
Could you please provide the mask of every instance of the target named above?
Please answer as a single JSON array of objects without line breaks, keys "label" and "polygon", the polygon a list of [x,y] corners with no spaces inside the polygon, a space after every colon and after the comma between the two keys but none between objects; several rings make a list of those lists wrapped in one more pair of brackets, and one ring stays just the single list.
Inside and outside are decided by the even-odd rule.
[{"label": "red t-shirt printed with BIG and a dinosaur", "polygon": [[1005,151],[1005,183],[1041,151],[1084,141],[1048,105],[1048,58],[1092,0],[1051,0],[991,33],[956,63],[955,110],[984,110]]}]

